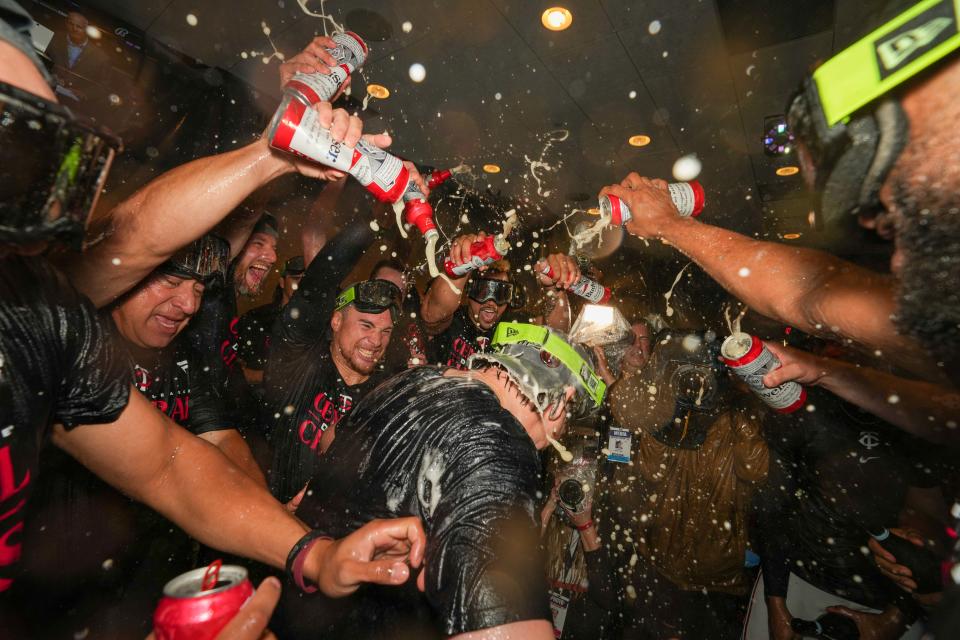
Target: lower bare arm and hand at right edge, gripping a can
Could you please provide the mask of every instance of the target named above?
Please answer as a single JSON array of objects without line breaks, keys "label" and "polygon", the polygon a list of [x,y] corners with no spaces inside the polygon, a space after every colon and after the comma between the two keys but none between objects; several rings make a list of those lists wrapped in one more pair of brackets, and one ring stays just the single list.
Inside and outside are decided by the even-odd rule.
[{"label": "lower bare arm and hand at right edge, gripping a can", "polygon": [[957,446],[960,393],[932,382],[908,380],[842,360],[821,358],[799,349],[765,342],[781,367],[763,382],[775,387],[787,380],[823,387],[924,440]]}]

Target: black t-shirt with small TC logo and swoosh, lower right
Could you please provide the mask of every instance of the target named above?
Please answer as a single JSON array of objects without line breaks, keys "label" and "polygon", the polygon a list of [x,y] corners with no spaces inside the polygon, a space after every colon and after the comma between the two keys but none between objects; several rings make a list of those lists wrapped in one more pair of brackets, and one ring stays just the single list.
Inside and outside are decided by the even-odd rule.
[{"label": "black t-shirt with small TC logo and swoosh, lower right", "polygon": [[871,527],[896,526],[909,487],[934,487],[945,465],[928,443],[820,389],[813,412],[770,413],[773,452],[758,492],[758,538],[768,594],[788,572],[836,595],[883,609],[896,587],[865,554]]}]

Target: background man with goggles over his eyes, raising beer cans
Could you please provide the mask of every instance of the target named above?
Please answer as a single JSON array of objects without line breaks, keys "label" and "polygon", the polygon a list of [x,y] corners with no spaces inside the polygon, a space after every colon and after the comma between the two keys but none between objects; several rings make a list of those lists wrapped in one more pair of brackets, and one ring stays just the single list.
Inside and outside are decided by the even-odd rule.
[{"label": "background man with goggles over his eyes, raising beer cans", "polygon": [[[450,244],[450,260],[454,265],[470,261],[470,245],[483,240],[486,234],[466,234]],[[556,253],[545,258],[553,269],[552,279],[541,276],[548,286],[566,289],[580,278],[580,267],[568,255]],[[467,358],[490,345],[493,328],[507,310],[513,298],[514,284],[510,279],[510,265],[495,262],[488,268],[470,272],[452,279],[457,293],[443,280],[431,283],[423,297],[420,317],[428,336],[431,363],[445,367],[466,369]],[[463,304],[466,296],[466,304]]]}]

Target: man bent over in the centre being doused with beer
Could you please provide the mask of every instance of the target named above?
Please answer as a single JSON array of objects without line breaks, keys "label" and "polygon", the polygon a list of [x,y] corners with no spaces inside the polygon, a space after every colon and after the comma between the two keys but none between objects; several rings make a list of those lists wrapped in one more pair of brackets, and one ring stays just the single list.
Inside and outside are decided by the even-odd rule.
[{"label": "man bent over in the centre being doused with beer", "polygon": [[538,451],[594,412],[606,387],[585,351],[545,327],[502,322],[492,346],[468,371],[414,367],[366,396],[297,511],[328,535],[419,516],[424,594],[370,589],[342,603],[291,594],[279,635],[553,638],[537,552]]}]

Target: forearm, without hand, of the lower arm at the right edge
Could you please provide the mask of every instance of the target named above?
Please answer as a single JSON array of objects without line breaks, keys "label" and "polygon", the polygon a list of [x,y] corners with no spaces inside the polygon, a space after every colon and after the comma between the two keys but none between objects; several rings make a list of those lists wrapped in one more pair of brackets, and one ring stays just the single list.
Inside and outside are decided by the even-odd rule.
[{"label": "forearm, without hand, of the lower arm at the right edge", "polygon": [[913,435],[956,446],[960,393],[930,382],[907,380],[840,360],[823,359],[819,386]]}]

